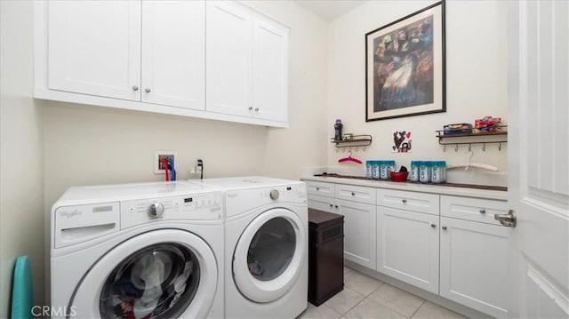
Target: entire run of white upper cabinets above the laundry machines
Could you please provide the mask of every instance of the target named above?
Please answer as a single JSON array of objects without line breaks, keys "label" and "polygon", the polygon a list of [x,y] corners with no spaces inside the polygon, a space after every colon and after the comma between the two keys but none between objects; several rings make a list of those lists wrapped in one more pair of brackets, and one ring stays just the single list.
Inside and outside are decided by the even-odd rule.
[{"label": "entire run of white upper cabinets above the laundry machines", "polygon": [[36,1],[34,97],[287,127],[289,28],[236,1]]}]

